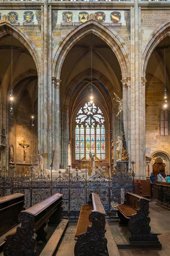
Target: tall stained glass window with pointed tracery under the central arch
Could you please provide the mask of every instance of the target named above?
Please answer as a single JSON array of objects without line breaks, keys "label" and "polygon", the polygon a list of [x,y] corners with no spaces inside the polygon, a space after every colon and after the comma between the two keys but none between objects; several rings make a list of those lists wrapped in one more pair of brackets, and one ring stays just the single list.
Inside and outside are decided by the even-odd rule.
[{"label": "tall stained glass window with pointed tracery under the central arch", "polygon": [[75,123],[75,160],[88,160],[90,152],[105,160],[105,119],[101,109],[94,103],[85,103]]}]

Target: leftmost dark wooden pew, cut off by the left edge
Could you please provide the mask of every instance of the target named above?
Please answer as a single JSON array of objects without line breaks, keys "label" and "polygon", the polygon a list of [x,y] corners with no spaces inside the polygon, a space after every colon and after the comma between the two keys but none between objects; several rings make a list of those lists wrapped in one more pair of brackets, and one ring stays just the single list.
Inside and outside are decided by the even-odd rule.
[{"label": "leftmost dark wooden pew, cut off by the left edge", "polygon": [[12,229],[18,222],[18,215],[24,207],[24,194],[15,193],[0,197],[0,236]]}]

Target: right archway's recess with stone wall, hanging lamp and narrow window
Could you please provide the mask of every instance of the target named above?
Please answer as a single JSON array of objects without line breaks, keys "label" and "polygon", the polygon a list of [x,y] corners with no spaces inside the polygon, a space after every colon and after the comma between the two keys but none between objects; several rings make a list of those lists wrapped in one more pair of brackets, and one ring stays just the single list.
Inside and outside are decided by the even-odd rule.
[{"label": "right archway's recess with stone wall, hanging lamp and narrow window", "polygon": [[[161,37],[161,35],[160,35]],[[164,38],[164,35],[162,36]],[[161,38],[162,38],[161,37]],[[166,65],[165,65],[166,57]],[[151,157],[156,151],[170,153],[170,37],[157,44],[150,55],[146,69],[146,153]],[[154,65],[153,65],[154,63]],[[166,73],[166,76],[165,76]],[[165,109],[165,79],[167,107]],[[169,168],[169,160],[167,164]],[[167,167],[166,167],[167,168]],[[166,169],[165,168],[165,169]],[[167,169],[166,169],[167,170]],[[169,171],[169,170],[168,170]]]}]

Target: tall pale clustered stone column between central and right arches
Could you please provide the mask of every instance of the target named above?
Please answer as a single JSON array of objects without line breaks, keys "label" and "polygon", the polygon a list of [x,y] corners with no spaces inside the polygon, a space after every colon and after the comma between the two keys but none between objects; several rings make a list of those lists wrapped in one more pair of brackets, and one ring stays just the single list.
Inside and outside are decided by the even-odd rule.
[{"label": "tall pale clustered stone column between central and right arches", "polygon": [[143,123],[142,123],[142,85],[141,85],[141,27],[140,8],[138,0],[134,0],[134,9],[131,8],[131,161],[134,166],[136,178],[145,179],[143,153]]}]

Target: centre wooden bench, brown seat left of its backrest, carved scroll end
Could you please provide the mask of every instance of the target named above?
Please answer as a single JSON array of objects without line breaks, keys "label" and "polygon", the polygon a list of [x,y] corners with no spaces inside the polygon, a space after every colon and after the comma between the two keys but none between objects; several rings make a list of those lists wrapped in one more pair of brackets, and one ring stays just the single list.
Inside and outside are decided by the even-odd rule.
[{"label": "centre wooden bench, brown seat left of its backrest, carved scroll end", "polygon": [[[75,238],[75,256],[107,256],[107,239],[105,238],[105,210],[97,194],[90,194],[90,203],[81,207]],[[91,224],[92,223],[92,224]],[[86,252],[86,254],[84,254]]]}]

